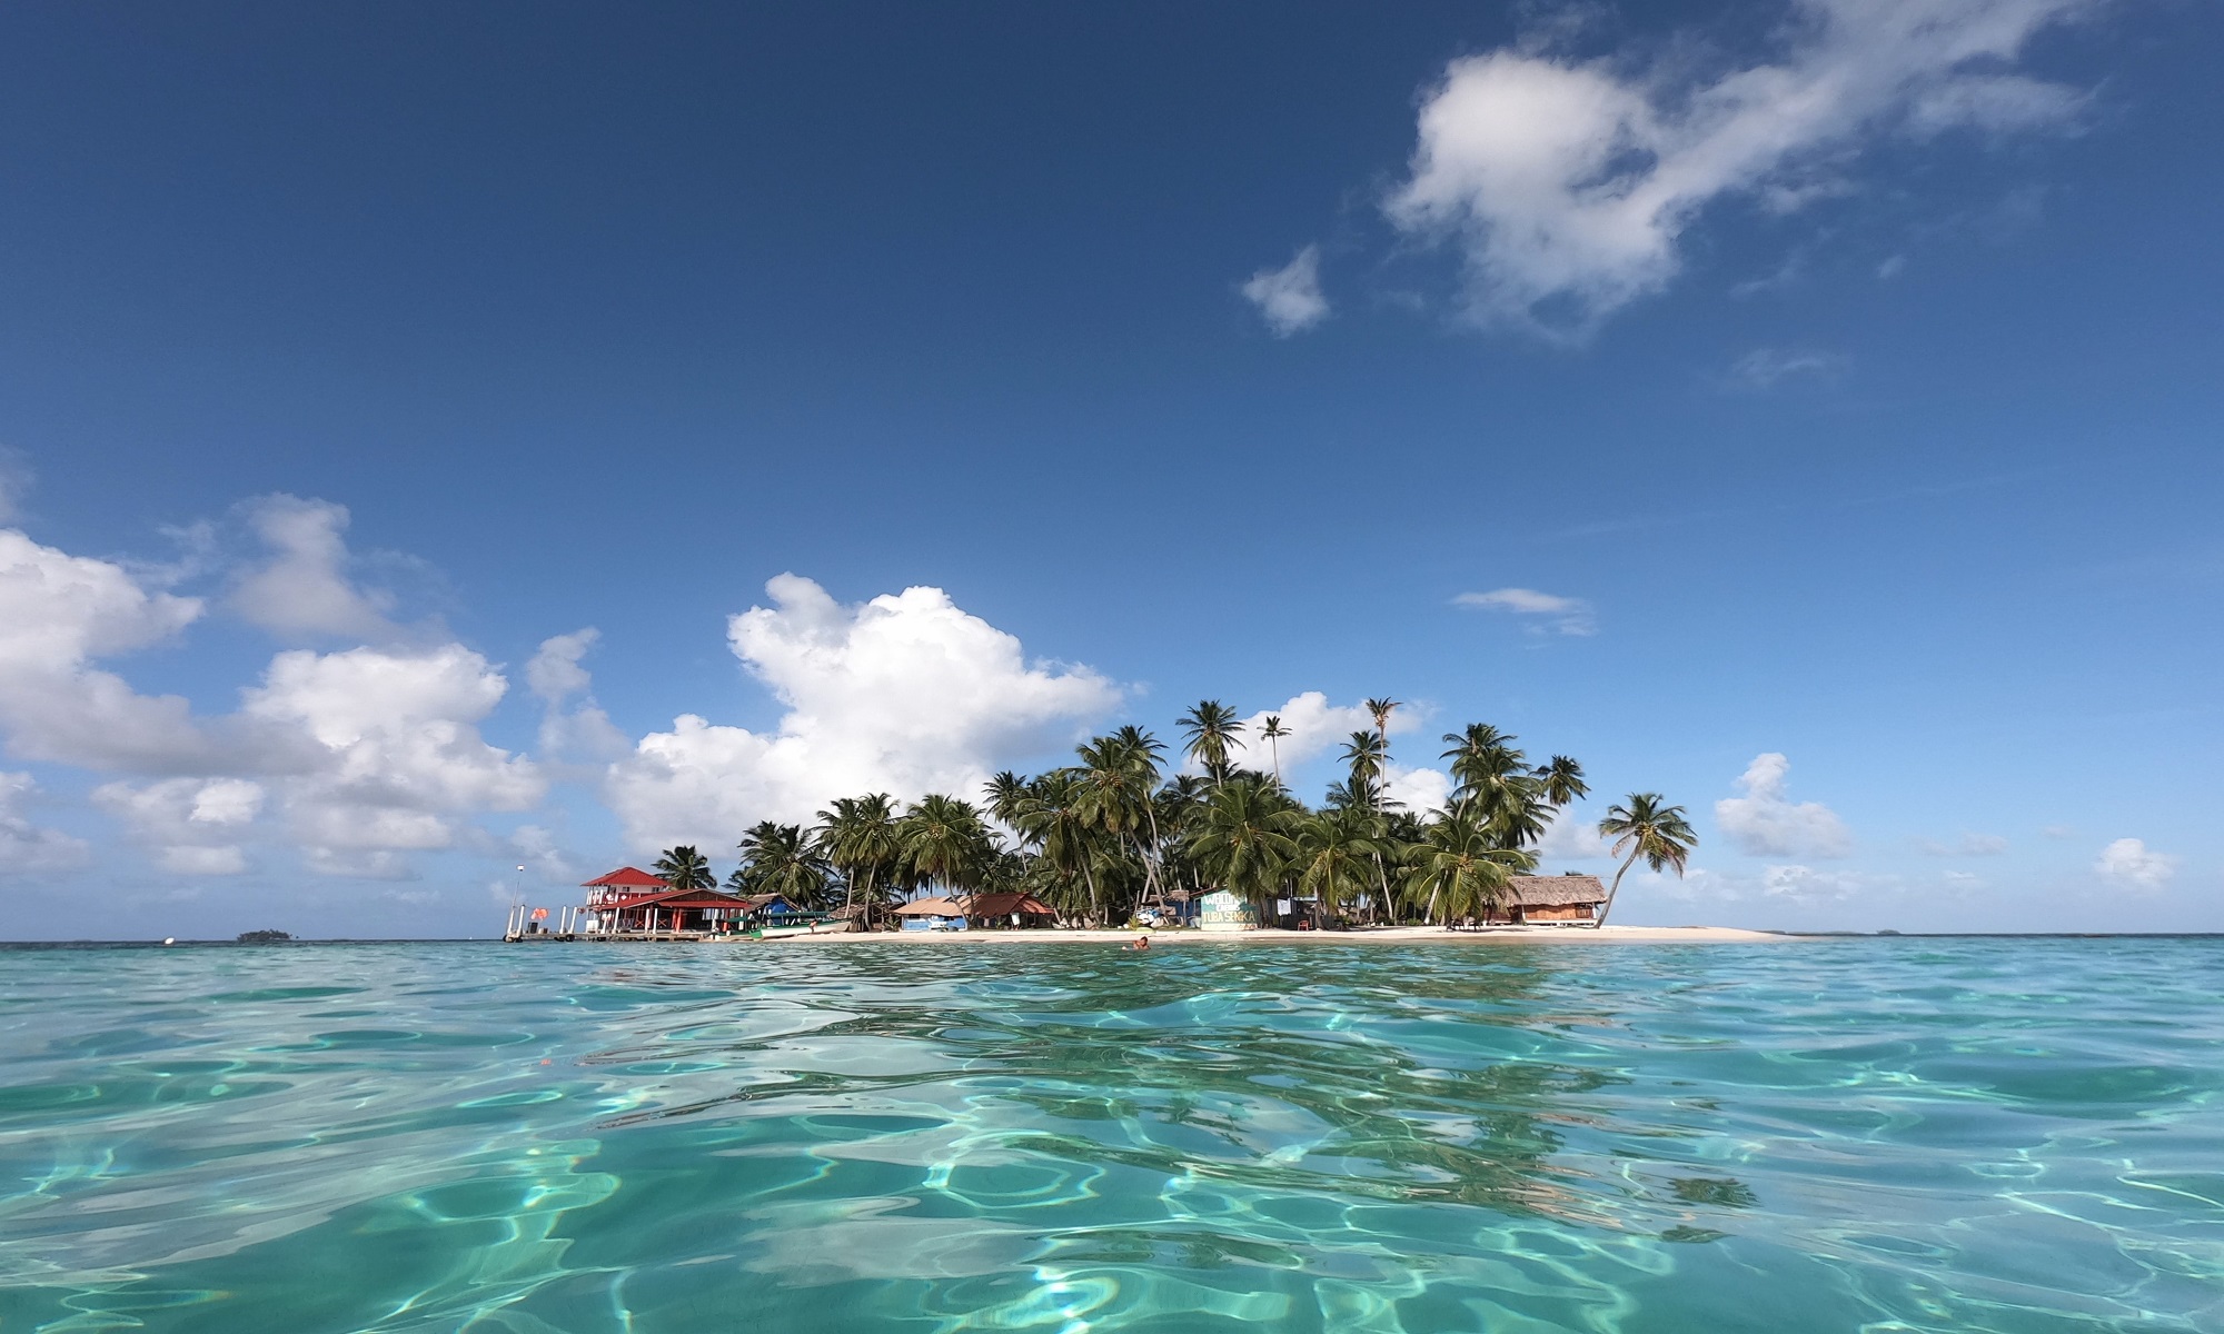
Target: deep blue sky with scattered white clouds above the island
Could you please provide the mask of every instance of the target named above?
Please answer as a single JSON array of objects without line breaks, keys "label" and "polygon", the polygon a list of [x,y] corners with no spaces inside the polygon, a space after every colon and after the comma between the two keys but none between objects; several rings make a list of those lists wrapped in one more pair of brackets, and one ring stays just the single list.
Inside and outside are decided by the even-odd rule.
[{"label": "deep blue sky with scattered white clouds above the island", "polygon": [[1488,720],[1690,807],[1628,920],[2224,929],[2220,38],[13,7],[7,934],[485,932],[1377,694],[1414,800]]}]

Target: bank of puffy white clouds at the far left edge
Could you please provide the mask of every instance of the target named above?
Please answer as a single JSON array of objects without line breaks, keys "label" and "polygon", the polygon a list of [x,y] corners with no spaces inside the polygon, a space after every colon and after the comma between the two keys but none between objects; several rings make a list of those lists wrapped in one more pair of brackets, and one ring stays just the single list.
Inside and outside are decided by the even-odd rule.
[{"label": "bank of puffy white clouds at the far left edge", "polygon": [[[278,551],[236,587],[256,616],[287,631],[391,631],[340,576],[345,509],[265,498],[249,514]],[[463,645],[282,651],[216,718],[136,694],[102,660],[202,614],[162,578],[0,529],[0,734],[27,758],[125,774],[93,805],[160,867],[236,874],[267,840],[294,843],[316,872],[407,876],[403,854],[463,845],[474,816],[540,803],[540,769],[478,734],[507,680]]]}]

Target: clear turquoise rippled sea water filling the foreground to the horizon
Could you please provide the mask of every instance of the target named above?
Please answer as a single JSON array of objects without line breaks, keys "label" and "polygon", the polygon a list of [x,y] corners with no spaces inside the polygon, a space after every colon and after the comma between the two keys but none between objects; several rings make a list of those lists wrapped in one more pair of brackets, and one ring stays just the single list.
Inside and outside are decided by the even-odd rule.
[{"label": "clear turquoise rippled sea water filling the foreground to the horizon", "polygon": [[2224,1330],[2224,940],[0,949],[0,1330]]}]

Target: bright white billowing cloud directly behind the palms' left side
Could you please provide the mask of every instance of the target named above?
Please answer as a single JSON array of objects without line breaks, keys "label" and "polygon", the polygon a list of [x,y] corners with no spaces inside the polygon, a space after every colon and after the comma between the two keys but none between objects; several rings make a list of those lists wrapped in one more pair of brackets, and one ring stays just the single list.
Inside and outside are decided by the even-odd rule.
[{"label": "bright white billowing cloud directly behind the palms' left side", "polygon": [[1072,745],[1121,698],[1088,667],[1030,663],[943,589],[843,605],[783,574],[765,591],[772,605],[729,618],[727,643],[787,711],[772,731],[685,714],[641,738],[605,778],[636,849],[723,847],[863,792],[976,798],[994,769]]}]

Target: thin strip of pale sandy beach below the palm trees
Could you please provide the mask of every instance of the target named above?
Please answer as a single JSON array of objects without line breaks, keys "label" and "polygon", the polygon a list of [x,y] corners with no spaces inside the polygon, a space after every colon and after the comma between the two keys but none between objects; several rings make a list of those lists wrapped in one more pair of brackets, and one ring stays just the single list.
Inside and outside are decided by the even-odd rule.
[{"label": "thin strip of pale sandy beach below the palm trees", "polygon": [[1784,932],[1741,927],[1359,927],[1352,932],[825,932],[783,936],[772,945],[1128,945],[1150,936],[1152,949],[1179,945],[1764,945],[1801,940]]}]

